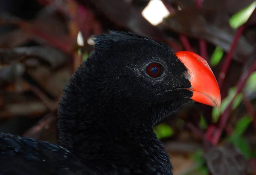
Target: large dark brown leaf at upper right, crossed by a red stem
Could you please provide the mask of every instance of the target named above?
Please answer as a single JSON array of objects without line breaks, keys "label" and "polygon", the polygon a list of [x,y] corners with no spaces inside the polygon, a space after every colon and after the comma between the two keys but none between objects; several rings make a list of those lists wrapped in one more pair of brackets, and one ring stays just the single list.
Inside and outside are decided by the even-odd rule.
[{"label": "large dark brown leaf at upper right, crossed by a red stem", "polygon": [[[229,25],[227,12],[219,15],[217,9],[197,9],[189,7],[177,11],[165,19],[173,31],[207,40],[215,46],[220,46],[225,52],[230,50],[236,31]],[[239,39],[234,59],[244,63],[253,52],[253,46],[242,36]]]}]

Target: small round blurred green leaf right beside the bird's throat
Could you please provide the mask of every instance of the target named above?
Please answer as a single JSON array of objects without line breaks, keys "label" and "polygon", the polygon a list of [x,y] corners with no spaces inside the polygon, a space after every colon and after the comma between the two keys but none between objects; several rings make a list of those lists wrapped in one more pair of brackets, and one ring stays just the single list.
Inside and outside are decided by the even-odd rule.
[{"label": "small round blurred green leaf right beside the bird's throat", "polygon": [[160,123],[157,126],[155,126],[154,132],[156,133],[158,139],[168,138],[174,134],[174,131],[171,128],[171,126],[164,123]]}]

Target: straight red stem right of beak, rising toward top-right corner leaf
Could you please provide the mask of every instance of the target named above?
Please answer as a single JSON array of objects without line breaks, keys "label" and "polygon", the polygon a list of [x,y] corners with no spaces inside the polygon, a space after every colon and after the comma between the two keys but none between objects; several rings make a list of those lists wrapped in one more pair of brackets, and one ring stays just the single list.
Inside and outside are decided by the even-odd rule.
[{"label": "straight red stem right of beak, rising toward top-right corner leaf", "polygon": [[239,41],[239,38],[241,37],[242,33],[244,32],[244,29],[245,29],[244,26],[241,26],[237,29],[235,38],[234,38],[233,43],[230,47],[230,51],[228,52],[227,56],[224,58],[224,63],[222,65],[221,71],[218,75],[218,85],[219,85],[220,89],[221,89],[222,84],[224,82],[224,78],[226,77],[227,70],[230,66],[233,54],[234,54],[235,49],[236,49],[236,45],[237,45],[237,43]]}]

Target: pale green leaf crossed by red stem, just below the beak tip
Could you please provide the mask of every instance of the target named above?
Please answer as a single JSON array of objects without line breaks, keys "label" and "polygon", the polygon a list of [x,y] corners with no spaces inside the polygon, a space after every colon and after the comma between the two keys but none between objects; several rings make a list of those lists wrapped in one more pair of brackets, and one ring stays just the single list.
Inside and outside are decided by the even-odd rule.
[{"label": "pale green leaf crossed by red stem, just below the beak tip", "polygon": [[[228,91],[227,97],[221,101],[220,109],[219,110],[217,110],[216,108],[212,109],[212,122],[215,123],[218,121],[219,116],[225,111],[225,109],[227,108],[227,106],[229,105],[229,103],[231,102],[231,100],[235,95],[236,95],[236,87],[230,88]],[[239,93],[232,102],[232,109],[236,109],[239,106],[239,104],[242,102],[242,100],[243,100],[243,95],[242,93]]]}]

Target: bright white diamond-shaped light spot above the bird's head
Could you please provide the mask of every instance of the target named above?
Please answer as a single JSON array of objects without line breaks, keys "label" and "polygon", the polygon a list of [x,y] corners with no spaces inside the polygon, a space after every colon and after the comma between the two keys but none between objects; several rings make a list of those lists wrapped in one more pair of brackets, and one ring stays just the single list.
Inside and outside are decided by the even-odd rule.
[{"label": "bright white diamond-shaped light spot above the bird's head", "polygon": [[163,18],[169,15],[168,9],[164,6],[161,0],[151,0],[148,6],[142,11],[143,17],[145,17],[148,22],[156,26],[163,21]]}]

